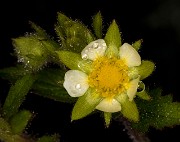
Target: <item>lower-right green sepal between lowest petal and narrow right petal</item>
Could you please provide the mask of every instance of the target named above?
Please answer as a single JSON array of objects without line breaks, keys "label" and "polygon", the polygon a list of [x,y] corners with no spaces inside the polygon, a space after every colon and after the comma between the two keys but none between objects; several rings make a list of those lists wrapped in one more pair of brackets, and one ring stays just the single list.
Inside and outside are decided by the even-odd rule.
[{"label": "lower-right green sepal between lowest petal and narrow right petal", "polygon": [[124,117],[133,122],[139,121],[139,111],[134,100],[129,101],[126,94],[118,95],[116,100],[121,104],[121,113]]}]

